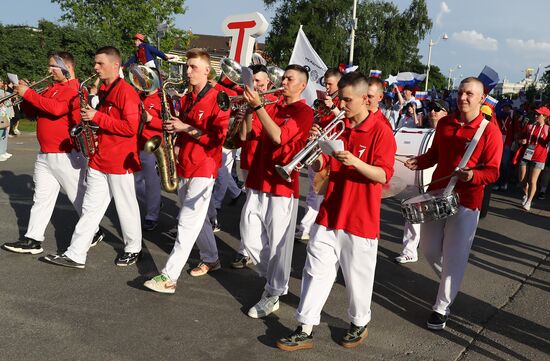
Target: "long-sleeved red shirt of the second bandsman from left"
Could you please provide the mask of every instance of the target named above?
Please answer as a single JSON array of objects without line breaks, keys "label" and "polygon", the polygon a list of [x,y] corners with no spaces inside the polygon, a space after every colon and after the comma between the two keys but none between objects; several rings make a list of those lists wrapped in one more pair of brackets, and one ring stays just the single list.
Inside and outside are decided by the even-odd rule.
[{"label": "long-sleeved red shirt of the second bandsman from left", "polygon": [[[114,82],[99,88],[101,99]],[[95,113],[93,122],[97,131],[97,152],[89,166],[108,174],[126,174],[141,169],[137,142],[140,114],[139,95],[134,88],[120,80]]]}]

